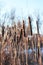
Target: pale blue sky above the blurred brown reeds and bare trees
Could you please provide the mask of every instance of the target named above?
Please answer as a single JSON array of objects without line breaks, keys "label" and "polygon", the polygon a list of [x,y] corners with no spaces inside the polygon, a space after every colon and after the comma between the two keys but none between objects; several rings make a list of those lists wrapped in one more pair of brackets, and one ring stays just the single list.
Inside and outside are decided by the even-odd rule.
[{"label": "pale blue sky above the blurred brown reeds and bare trees", "polygon": [[[2,17],[5,12],[10,12],[13,8],[15,9],[16,17],[20,16],[22,18],[28,15],[34,17],[39,13],[43,20],[43,0],[0,0],[0,17]],[[33,24],[35,24],[35,22]],[[41,25],[40,31],[40,33],[43,34],[42,28],[43,24]]]}]

